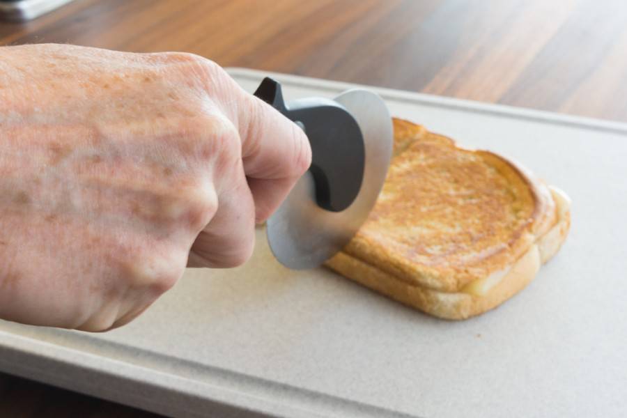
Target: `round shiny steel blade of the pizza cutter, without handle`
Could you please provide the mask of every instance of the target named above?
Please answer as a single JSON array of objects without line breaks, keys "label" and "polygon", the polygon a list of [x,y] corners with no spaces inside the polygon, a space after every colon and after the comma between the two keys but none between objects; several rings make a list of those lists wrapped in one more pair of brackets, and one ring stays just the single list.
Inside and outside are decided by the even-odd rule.
[{"label": "round shiny steel blade of the pizza cutter, without handle", "polygon": [[348,109],[362,130],[366,150],[362,187],[346,210],[330,212],[316,203],[311,173],[298,180],[268,219],[270,249],[288,268],[314,268],[348,244],[373,208],[392,157],[392,118],[379,95],[355,89],[334,100]]}]

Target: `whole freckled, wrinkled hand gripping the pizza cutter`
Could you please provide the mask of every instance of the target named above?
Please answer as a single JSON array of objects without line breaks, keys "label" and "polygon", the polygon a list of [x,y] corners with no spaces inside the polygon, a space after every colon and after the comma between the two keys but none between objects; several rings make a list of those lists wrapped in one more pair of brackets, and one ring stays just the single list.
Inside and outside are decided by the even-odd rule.
[{"label": "whole freckled, wrinkled hand gripping the pizza cutter", "polygon": [[0,47],[0,318],[109,330],[247,260],[304,134],[192,54]]}]

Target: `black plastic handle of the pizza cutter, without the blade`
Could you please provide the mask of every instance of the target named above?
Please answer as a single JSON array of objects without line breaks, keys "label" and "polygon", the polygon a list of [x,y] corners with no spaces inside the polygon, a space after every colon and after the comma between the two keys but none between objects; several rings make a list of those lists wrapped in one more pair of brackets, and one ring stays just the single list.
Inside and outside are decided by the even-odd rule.
[{"label": "black plastic handle of the pizza cutter, without the blade", "polygon": [[341,104],[325,98],[286,104],[281,84],[266,77],[254,95],[294,121],[311,144],[311,167],[318,206],[339,212],[350,206],[362,187],[366,151],[362,130]]}]

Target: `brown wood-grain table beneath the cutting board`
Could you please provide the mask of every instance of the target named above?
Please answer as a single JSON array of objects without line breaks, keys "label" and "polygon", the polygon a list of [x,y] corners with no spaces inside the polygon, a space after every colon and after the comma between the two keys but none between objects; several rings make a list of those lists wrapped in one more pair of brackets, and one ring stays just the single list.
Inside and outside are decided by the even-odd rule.
[{"label": "brown wood-grain table beneath the cutting board", "polygon": [[[627,121],[624,0],[77,0],[0,24],[0,45],[33,42],[186,51],[223,66]],[[150,416],[0,375],[0,417],[69,415]]]}]

